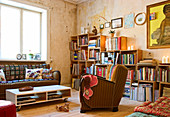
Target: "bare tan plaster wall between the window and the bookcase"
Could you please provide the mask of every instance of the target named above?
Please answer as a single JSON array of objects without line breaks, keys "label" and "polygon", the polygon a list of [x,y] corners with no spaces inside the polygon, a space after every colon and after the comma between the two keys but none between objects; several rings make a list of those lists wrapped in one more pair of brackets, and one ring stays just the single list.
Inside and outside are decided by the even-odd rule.
[{"label": "bare tan plaster wall between the window and the bookcase", "polygon": [[24,0],[49,8],[50,11],[50,58],[53,70],[60,70],[61,84],[70,78],[70,36],[77,33],[77,7],[64,0]]}]

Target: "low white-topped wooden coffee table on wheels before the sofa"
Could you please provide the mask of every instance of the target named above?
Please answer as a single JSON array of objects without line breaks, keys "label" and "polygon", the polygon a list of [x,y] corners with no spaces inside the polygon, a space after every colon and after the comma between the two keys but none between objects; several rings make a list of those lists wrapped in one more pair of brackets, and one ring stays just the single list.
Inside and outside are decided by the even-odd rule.
[{"label": "low white-topped wooden coffee table on wheels before the sofa", "polygon": [[21,106],[55,101],[71,97],[71,88],[61,85],[34,87],[31,91],[19,91],[19,89],[7,89],[6,100],[12,101],[19,111]]}]

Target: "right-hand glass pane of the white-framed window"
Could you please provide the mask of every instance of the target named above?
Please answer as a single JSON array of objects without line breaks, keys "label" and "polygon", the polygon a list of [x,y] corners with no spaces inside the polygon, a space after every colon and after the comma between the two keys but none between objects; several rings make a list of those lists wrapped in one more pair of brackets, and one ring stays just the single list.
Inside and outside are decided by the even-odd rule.
[{"label": "right-hand glass pane of the white-framed window", "polygon": [[23,11],[23,53],[40,53],[40,17],[40,13]]}]

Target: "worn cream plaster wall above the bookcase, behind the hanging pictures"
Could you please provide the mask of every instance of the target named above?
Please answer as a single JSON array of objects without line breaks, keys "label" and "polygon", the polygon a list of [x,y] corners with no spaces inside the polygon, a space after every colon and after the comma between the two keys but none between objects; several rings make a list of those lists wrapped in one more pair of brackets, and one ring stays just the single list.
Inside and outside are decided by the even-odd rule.
[{"label": "worn cream plaster wall above the bookcase, behind the hanging pictures", "polygon": [[[130,13],[135,15],[140,12],[146,13],[147,5],[162,1],[165,0],[88,0],[79,4],[77,8],[78,33],[81,31],[81,27],[87,27],[88,24],[90,27],[93,25],[98,27],[99,24],[106,22],[99,16],[105,17],[110,22],[111,19],[124,18],[125,15]],[[104,29],[102,33],[108,35],[109,29]],[[136,49],[142,49],[143,57],[146,57],[149,52],[159,61],[161,61],[162,56],[170,57],[170,49],[147,49],[146,23],[142,26],[135,25],[134,28],[129,29],[117,28],[115,31],[116,36],[128,37],[128,45],[134,45]]]}]

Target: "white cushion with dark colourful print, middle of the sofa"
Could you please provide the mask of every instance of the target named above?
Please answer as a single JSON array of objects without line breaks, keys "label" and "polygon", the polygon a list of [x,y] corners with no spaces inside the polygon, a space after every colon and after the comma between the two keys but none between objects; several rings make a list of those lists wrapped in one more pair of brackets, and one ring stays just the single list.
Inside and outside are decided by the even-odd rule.
[{"label": "white cushion with dark colourful print, middle of the sofa", "polygon": [[42,79],[43,68],[40,69],[27,69],[25,79]]}]

